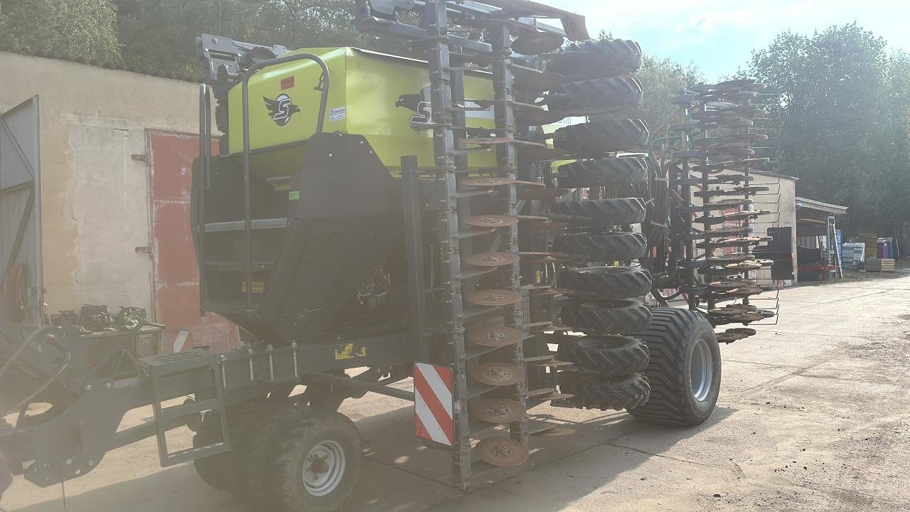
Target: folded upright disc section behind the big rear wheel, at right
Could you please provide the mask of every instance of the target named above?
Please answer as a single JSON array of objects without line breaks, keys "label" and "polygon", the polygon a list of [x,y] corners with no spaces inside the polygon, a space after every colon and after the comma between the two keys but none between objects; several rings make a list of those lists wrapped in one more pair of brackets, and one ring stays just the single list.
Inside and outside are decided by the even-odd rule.
[{"label": "folded upright disc section behind the big rear wheel, at right", "polygon": [[[767,116],[755,105],[755,98],[764,88],[746,78],[690,87],[686,94],[672,98],[689,115],[671,129],[682,132],[692,143],[691,148],[677,151],[674,156],[693,164],[691,168],[682,165],[689,171],[682,179],[697,188],[693,197],[702,200],[701,205],[691,201],[684,204],[681,213],[690,217],[701,214],[692,218],[693,225],[701,229],[693,229],[685,236],[698,241],[696,247],[704,255],[681,263],[702,274],[703,285],[693,284],[690,292],[699,297],[699,302],[707,303],[708,320],[714,326],[748,325],[776,314],[749,303],[755,295],[774,290],[773,285],[749,278],[773,265],[773,260],[753,254],[753,247],[772,240],[753,236],[753,224],[772,213],[755,208],[755,196],[769,195],[770,187],[753,185],[754,176],[750,173],[753,166],[766,160],[756,158],[753,148],[755,144],[767,145],[768,135],[754,129],[754,121]],[[739,303],[729,303],[732,301]],[[718,333],[717,339],[733,343],[753,334],[755,331],[749,327],[733,327]]]}]

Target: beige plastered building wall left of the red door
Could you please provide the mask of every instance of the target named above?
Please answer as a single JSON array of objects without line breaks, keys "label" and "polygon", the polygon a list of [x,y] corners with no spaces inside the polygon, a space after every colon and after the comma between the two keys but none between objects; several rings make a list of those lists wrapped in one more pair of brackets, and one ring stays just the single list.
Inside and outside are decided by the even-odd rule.
[{"label": "beige plastered building wall left of the red door", "polygon": [[197,86],[0,52],[0,111],[38,95],[48,312],[152,309],[147,129],[193,133]]}]

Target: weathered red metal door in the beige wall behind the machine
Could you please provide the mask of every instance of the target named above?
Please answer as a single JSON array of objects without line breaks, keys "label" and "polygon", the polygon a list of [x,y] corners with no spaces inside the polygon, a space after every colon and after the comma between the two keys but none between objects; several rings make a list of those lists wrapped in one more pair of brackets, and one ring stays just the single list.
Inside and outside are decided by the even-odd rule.
[{"label": "weathered red metal door in the beige wall behind the machine", "polygon": [[[189,230],[191,169],[199,139],[149,131],[148,147],[155,320],[167,325],[165,352],[200,345],[225,352],[239,343],[237,326],[212,312],[199,317],[199,269]],[[217,143],[212,148],[217,151]]]}]

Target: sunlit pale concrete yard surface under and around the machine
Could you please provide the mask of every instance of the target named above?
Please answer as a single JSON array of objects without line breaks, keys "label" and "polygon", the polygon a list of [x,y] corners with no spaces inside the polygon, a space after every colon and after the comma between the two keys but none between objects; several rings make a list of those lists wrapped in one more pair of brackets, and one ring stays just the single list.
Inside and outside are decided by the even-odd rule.
[{"label": "sunlit pale concrete yard surface under and around the machine", "polygon": [[[910,276],[798,287],[781,300],[778,325],[722,347],[721,399],[705,424],[541,406],[535,425],[574,432],[534,437],[528,466],[469,495],[444,485],[448,456],[410,435],[409,404],[349,401],[342,412],[363,433],[367,463],[345,512],[910,510]],[[244,510],[192,466],[157,467],[151,440],[109,454],[66,494],[72,512]],[[0,505],[63,509],[59,486],[21,479]]]}]

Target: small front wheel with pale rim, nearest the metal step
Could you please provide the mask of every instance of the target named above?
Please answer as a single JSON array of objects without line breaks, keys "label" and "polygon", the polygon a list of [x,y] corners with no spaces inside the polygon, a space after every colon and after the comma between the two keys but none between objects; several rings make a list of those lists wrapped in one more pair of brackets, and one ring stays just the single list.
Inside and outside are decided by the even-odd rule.
[{"label": "small front wheel with pale rim, nearest the metal step", "polygon": [[[304,478],[320,445],[337,450],[343,465],[326,467],[336,483],[325,494],[308,489]],[[252,425],[238,456],[244,497],[275,512],[334,512],[357,485],[362,467],[360,434],[345,415],[301,405],[268,411]],[[328,453],[328,452],[327,452]],[[333,476],[339,472],[337,476]]]}]

